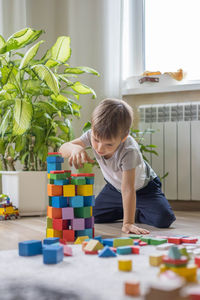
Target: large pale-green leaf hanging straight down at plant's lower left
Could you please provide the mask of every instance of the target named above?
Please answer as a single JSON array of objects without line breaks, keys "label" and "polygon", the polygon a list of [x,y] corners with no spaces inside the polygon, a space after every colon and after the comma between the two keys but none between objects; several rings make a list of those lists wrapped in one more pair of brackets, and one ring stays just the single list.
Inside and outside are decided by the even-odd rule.
[{"label": "large pale-green leaf hanging straight down at plant's lower left", "polygon": [[26,132],[33,116],[32,104],[23,99],[16,99],[14,107],[13,135],[22,135]]}]

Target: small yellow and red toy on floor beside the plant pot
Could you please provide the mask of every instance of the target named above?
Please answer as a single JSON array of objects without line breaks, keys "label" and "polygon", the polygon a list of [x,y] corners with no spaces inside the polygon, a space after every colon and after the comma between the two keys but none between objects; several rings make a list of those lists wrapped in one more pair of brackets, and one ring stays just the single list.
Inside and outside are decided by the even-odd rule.
[{"label": "small yellow and red toy on floor beside the plant pot", "polygon": [[0,221],[13,220],[19,218],[19,210],[10,202],[10,198],[5,195],[0,195]]}]

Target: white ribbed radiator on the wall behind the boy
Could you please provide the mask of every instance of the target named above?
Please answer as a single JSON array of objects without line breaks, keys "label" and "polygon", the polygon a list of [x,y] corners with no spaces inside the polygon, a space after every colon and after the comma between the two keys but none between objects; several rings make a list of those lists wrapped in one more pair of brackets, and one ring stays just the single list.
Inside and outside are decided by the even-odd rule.
[{"label": "white ribbed radiator on the wall behind the boy", "polygon": [[169,200],[200,200],[200,102],[139,106],[139,129],[151,128],[146,144],[157,145],[146,155],[163,179]]}]

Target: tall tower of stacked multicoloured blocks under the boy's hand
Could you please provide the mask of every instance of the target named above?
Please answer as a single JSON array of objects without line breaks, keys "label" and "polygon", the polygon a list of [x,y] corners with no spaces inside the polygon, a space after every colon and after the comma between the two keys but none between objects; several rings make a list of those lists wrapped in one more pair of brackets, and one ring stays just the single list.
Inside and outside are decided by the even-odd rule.
[{"label": "tall tower of stacked multicoloured blocks under the boy's hand", "polygon": [[57,152],[48,153],[47,237],[74,242],[79,236],[94,237],[94,174],[71,174],[62,170],[64,159]]}]

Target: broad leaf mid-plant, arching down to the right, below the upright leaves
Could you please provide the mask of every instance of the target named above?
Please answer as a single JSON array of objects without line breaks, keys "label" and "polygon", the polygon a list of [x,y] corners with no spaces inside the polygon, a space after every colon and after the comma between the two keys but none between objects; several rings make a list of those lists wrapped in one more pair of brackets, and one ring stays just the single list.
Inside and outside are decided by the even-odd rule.
[{"label": "broad leaf mid-plant, arching down to the right, below the upright leaves", "polygon": [[59,94],[58,79],[48,67],[39,64],[32,66],[31,69],[35,72],[40,80],[46,83],[46,85],[55,95]]}]

